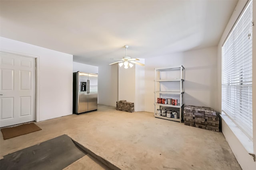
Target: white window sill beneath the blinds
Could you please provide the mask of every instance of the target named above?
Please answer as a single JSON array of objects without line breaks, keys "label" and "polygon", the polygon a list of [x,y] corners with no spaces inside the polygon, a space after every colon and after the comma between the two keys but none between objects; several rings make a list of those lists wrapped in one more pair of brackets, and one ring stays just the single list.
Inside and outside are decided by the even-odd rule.
[{"label": "white window sill beneath the blinds", "polygon": [[253,154],[253,142],[250,140],[243,132],[240,130],[236,124],[225,114],[222,112],[220,115],[222,117],[222,121],[228,125],[230,130],[234,133],[237,139],[240,141],[244,149],[248,152],[248,154]]}]

